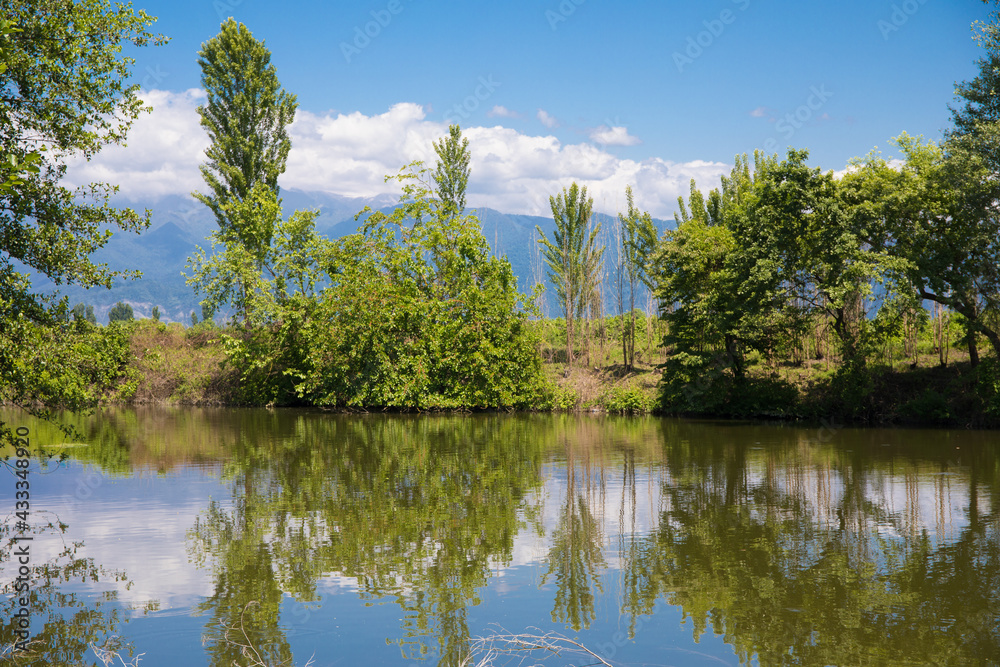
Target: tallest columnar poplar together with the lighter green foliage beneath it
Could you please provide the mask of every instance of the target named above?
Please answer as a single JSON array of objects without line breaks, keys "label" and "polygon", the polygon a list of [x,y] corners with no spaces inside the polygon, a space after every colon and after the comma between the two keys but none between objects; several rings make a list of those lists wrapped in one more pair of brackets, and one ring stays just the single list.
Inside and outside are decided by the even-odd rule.
[{"label": "tallest columnar poplar together with the lighter green foliage beneath it", "polygon": [[[242,23],[227,20],[198,55],[208,93],[198,113],[212,140],[201,173],[211,192],[194,196],[215,214],[213,250],[221,245],[225,257],[210,261],[199,248],[189,259],[194,274],[188,282],[207,294],[213,311],[231,304],[250,326],[251,302],[271,269],[266,258],[281,217],[278,176],[298,105],[278,82],[270,51]],[[211,283],[205,282],[206,267]]]}]

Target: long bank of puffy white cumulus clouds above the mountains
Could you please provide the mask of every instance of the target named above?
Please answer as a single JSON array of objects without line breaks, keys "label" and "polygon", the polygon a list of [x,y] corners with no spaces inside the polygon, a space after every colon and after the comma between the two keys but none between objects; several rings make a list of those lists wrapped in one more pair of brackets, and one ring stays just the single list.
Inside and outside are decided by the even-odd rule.
[{"label": "long bank of puffy white cumulus clouds above the mountains", "polygon": [[[128,147],[109,148],[90,162],[72,165],[74,183],[117,183],[133,200],[204,189],[198,167],[209,142],[196,112],[204,94],[151,91],[145,95],[154,111],[133,127]],[[432,144],[447,132],[445,122],[428,120],[427,110],[417,104],[396,104],[370,116],[300,109],[289,128],[292,150],[279,182],[283,188],[350,197],[397,192],[385,183],[385,175],[397,173],[413,160],[433,165]],[[602,142],[605,146],[638,141],[624,128],[605,128],[604,132],[610,139]],[[677,197],[687,195],[692,178],[708,189],[718,185],[719,176],[731,168],[721,162],[678,163],[658,157],[623,160],[601,145],[564,144],[551,135],[533,136],[500,126],[468,127],[463,133],[472,154],[469,205],[507,213],[548,215],[549,195],[576,181],[587,186],[599,211],[623,209],[625,186],[631,185],[637,206],[669,218]]]}]

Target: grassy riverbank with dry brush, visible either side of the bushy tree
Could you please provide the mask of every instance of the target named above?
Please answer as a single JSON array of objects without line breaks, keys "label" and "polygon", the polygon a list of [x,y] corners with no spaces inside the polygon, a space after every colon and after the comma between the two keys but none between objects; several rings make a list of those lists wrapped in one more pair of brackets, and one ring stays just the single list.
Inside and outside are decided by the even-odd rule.
[{"label": "grassy riverbank with dry brush, visible either side of the bushy tree", "polygon": [[[226,363],[225,336],[211,323],[184,327],[143,320],[132,325],[135,391],[116,402],[201,406],[245,405],[239,373]],[[553,341],[556,342],[556,341]],[[994,364],[972,369],[952,350],[947,365],[923,355],[913,362],[846,373],[829,360],[753,365],[747,378],[708,369],[673,395],[665,391],[663,357],[647,349],[626,370],[614,348],[581,355],[572,368],[558,349],[542,342],[546,378],[541,411],[670,414],[708,418],[835,420],[838,423],[966,428],[998,424]],[[992,391],[991,391],[992,390]]]}]

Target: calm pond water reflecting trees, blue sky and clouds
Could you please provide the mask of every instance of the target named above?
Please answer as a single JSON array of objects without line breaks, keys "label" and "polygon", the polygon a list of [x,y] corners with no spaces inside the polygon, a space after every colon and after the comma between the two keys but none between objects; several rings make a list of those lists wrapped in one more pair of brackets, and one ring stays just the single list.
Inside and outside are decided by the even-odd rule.
[{"label": "calm pond water reflecting trees, blue sky and clouds", "polygon": [[519,664],[497,636],[522,633],[614,665],[1000,663],[997,433],[155,409],[69,442],[0,418],[47,453],[17,664]]}]

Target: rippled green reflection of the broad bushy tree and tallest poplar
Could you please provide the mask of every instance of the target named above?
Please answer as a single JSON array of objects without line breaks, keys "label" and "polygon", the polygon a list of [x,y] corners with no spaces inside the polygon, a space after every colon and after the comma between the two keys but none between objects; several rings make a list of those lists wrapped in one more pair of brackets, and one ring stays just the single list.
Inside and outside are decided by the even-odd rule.
[{"label": "rippled green reflection of the broad bushy tree and tallest poplar", "polygon": [[213,503],[190,532],[192,553],[216,573],[201,606],[213,664],[243,664],[225,638],[241,621],[272,664],[289,660],[282,592],[317,602],[328,574],[404,609],[405,657],[460,664],[468,609],[492,566],[510,561],[524,499],[540,485],[530,421],[303,418],[280,437],[249,435],[259,432],[231,443],[232,509]]}]

